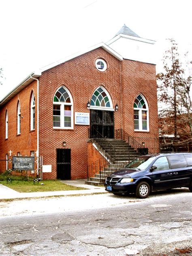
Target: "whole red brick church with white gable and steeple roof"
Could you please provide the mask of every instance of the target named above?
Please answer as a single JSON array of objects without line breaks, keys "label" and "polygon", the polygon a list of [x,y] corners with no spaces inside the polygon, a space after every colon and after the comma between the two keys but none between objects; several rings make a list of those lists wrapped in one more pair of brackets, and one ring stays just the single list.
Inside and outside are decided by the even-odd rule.
[{"label": "whole red brick church with white gable and steeple roof", "polygon": [[108,43],[28,75],[0,101],[0,159],[42,156],[43,179],[79,179],[105,158],[94,139],[127,134],[157,152],[158,140],[147,144],[158,138],[154,43],[124,25]]}]

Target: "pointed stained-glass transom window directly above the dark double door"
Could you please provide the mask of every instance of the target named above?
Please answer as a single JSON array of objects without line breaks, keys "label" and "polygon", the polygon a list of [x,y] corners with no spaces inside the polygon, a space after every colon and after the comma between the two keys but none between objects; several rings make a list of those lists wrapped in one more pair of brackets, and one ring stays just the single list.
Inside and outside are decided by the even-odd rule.
[{"label": "pointed stained-glass transom window directly above the dark double door", "polygon": [[102,87],[97,88],[92,95],[91,107],[111,107],[111,98]]}]

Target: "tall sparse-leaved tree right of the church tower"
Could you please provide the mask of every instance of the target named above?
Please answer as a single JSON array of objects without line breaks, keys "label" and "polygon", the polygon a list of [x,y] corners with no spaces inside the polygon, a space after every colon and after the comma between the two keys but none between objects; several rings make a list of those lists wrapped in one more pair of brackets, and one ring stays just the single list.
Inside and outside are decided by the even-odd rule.
[{"label": "tall sparse-leaved tree right of the church tower", "polygon": [[173,135],[173,149],[177,151],[178,147],[189,147],[192,143],[192,77],[179,60],[177,43],[174,39],[169,41],[171,47],[163,58],[165,72],[157,75],[158,99],[166,106],[160,111],[159,126],[160,135]]}]

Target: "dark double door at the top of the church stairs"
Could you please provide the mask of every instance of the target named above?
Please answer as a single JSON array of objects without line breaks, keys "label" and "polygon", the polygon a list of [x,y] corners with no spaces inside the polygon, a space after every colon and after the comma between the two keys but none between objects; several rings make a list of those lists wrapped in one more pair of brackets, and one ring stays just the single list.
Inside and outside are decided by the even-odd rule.
[{"label": "dark double door at the top of the church stairs", "polygon": [[91,109],[91,138],[114,138],[114,111]]}]

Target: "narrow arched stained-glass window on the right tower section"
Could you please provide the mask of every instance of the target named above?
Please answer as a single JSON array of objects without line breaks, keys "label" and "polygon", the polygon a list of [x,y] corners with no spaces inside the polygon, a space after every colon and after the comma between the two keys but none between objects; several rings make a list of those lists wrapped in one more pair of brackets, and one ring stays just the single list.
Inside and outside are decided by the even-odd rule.
[{"label": "narrow arched stained-glass window on the right tower section", "polygon": [[141,94],[134,101],[134,130],[149,130],[149,109],[147,101]]}]

